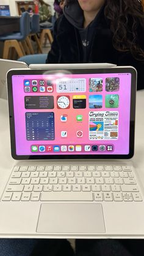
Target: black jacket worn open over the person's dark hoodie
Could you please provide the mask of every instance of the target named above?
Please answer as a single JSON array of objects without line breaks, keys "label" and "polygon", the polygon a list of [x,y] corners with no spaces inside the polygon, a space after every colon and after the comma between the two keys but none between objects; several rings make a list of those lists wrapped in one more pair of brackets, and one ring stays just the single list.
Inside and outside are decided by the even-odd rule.
[{"label": "black jacket worn open over the person's dark hoodie", "polygon": [[[140,32],[140,46],[144,49],[144,32]],[[48,53],[46,63],[67,64],[82,63],[82,45],[79,32],[64,15],[56,21],[54,26],[54,42]],[[135,60],[131,53],[122,53],[113,48],[112,32],[104,16],[99,15],[98,26],[95,29],[92,47],[88,59],[89,63],[112,63],[119,66],[131,65],[137,69],[137,89],[144,89],[144,62]]]}]

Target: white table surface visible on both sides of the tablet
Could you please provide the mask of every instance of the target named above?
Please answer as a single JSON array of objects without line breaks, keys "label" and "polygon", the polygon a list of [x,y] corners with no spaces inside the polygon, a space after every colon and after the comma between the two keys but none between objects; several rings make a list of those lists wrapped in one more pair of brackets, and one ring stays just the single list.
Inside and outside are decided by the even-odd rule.
[{"label": "white table surface visible on both sides of the tablet", "polygon": [[[144,191],[144,90],[137,92],[135,122],[135,154],[130,160],[135,167]],[[121,161],[121,160],[119,160]],[[0,197],[8,181],[12,167],[17,164],[10,153],[10,132],[8,103],[0,99]]]}]

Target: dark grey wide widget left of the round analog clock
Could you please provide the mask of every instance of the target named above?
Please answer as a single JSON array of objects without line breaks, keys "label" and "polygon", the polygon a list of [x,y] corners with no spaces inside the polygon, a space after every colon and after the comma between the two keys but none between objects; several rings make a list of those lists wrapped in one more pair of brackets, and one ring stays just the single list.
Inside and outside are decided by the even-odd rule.
[{"label": "dark grey wide widget left of the round analog clock", "polygon": [[25,109],[53,109],[53,96],[26,96],[24,97]]}]

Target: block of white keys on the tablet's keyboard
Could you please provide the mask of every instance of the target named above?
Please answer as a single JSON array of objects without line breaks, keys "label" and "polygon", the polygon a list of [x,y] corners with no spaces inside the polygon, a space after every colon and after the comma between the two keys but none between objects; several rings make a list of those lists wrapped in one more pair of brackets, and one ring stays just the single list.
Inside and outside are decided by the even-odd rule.
[{"label": "block of white keys on the tablet's keyboard", "polygon": [[15,166],[2,201],[142,201],[131,166]]}]

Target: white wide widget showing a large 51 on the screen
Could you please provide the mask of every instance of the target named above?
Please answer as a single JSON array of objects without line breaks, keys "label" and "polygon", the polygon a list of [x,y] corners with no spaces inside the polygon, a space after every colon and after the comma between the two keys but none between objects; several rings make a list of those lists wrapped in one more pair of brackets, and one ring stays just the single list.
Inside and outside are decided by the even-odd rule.
[{"label": "white wide widget showing a large 51 on the screen", "polygon": [[57,79],[56,81],[57,92],[86,92],[86,79],[85,78],[71,78],[71,79]]}]

